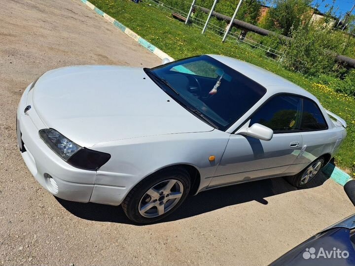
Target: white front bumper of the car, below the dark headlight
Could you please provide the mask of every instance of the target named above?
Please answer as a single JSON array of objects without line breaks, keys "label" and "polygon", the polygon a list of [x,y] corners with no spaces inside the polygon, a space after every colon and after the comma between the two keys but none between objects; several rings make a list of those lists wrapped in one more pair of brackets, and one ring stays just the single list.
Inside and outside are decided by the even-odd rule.
[{"label": "white front bumper of the car, below the dark headlight", "polygon": [[27,98],[32,99],[29,87],[25,90],[17,110],[18,145],[26,166],[38,183],[54,196],[89,202],[94,189],[96,171],[70,166],[40,139],[38,131],[46,127],[38,118],[34,106],[24,113],[29,103]]}]

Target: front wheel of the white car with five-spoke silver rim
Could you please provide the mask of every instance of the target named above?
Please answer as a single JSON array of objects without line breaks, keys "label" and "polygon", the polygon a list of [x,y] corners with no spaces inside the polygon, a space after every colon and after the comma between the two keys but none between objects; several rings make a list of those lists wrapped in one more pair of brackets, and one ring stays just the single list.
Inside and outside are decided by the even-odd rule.
[{"label": "front wheel of the white car with five-spoke silver rim", "polygon": [[122,208],[133,222],[153,223],[173,213],[190,188],[186,169],[178,166],[162,169],[139,182],[123,200]]}]

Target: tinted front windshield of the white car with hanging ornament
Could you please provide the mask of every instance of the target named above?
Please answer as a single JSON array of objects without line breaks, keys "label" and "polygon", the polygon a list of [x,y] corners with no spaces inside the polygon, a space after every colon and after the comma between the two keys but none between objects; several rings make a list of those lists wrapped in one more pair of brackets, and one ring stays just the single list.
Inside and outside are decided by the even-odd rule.
[{"label": "tinted front windshield of the white car with hanging ornament", "polygon": [[207,55],[145,71],[178,103],[220,130],[228,129],[266,93],[255,81]]}]

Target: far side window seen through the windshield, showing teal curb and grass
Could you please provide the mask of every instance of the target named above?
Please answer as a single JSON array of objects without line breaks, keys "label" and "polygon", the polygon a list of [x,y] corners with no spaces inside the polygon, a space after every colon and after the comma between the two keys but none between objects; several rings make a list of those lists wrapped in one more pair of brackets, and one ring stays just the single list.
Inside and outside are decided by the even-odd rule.
[{"label": "far side window seen through the windshield, showing teal curb and grass", "polygon": [[174,66],[170,69],[170,71],[176,71],[180,73],[186,73],[208,78],[217,78],[217,70],[218,68],[216,66],[213,66],[212,64],[204,60]]}]

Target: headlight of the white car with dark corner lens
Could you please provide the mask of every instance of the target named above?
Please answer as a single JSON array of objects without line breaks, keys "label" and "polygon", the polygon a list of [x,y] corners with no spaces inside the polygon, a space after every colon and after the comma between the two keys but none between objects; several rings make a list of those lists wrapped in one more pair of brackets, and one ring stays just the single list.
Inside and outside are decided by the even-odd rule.
[{"label": "headlight of the white car with dark corner lens", "polygon": [[111,155],[79,146],[54,129],[39,131],[40,138],[59,157],[71,166],[97,170],[111,158]]}]

